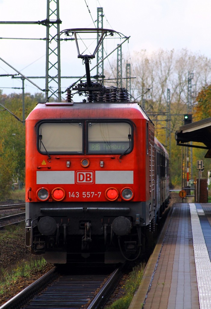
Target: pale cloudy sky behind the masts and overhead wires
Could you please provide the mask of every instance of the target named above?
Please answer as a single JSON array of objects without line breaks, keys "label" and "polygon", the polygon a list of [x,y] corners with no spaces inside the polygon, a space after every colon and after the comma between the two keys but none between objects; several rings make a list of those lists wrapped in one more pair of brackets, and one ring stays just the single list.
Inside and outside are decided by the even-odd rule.
[{"label": "pale cloudy sky behind the masts and overhead wires", "polygon": [[[58,0],[57,0],[58,1]],[[211,1],[210,0],[59,0],[60,31],[69,28],[95,28],[97,7],[103,8],[103,28],[113,29],[130,36],[122,45],[125,57],[146,49],[188,49],[211,58]],[[38,21],[47,17],[47,0],[0,0],[0,21]],[[45,38],[43,25],[0,24],[0,58],[25,76],[45,76],[46,42],[44,40],[17,40],[10,38]],[[120,42],[103,45],[106,52]],[[107,50],[108,48],[108,50]],[[116,66],[117,52],[109,57]],[[134,60],[133,60],[134,61]],[[96,62],[92,62],[94,66]],[[105,67],[105,65],[104,65]],[[94,71],[94,70],[93,70]],[[0,60],[0,75],[16,72]],[[61,42],[61,76],[85,74],[77,59],[75,43]],[[93,73],[93,74],[96,74]],[[33,80],[41,89],[44,79]],[[62,90],[73,80],[62,80]],[[25,92],[40,90],[25,80]],[[22,93],[20,78],[0,76],[3,94]]]}]

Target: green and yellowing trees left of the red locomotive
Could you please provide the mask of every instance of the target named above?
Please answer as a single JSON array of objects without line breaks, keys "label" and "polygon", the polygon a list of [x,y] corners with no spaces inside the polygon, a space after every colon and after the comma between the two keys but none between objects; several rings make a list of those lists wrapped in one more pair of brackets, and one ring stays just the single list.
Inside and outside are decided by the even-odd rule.
[{"label": "green and yellowing trees left of the red locomotive", "polygon": [[[11,113],[22,119],[22,95],[4,95],[0,103]],[[25,94],[25,115],[36,106],[42,94]],[[13,183],[25,180],[25,125],[10,112],[0,110],[0,201],[9,198]]]}]

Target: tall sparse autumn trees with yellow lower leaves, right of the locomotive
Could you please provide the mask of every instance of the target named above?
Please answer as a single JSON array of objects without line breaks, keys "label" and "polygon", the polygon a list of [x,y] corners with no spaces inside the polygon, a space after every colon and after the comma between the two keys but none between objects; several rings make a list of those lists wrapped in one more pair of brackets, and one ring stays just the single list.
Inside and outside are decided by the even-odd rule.
[{"label": "tall sparse autumn trees with yellow lower leaves, right of the locomotive", "polygon": [[[131,77],[136,77],[131,79],[131,94],[144,107],[155,124],[157,138],[171,154],[172,183],[175,186],[181,185],[181,147],[176,146],[175,132],[184,125],[183,115],[189,109],[189,73],[194,74],[191,89],[194,104],[202,87],[211,84],[211,60],[187,49],[159,49],[151,53],[141,50],[133,53],[130,59],[124,56],[123,59],[125,63],[131,62]],[[123,85],[125,87],[124,80]],[[170,114],[167,109],[167,89],[170,91]],[[193,121],[199,120],[200,109],[193,114]]]}]

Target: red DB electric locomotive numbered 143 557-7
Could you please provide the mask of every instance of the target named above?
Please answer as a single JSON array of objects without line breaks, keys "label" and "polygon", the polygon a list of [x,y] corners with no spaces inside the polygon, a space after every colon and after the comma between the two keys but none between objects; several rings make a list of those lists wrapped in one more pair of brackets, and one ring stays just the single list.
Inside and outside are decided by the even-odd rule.
[{"label": "red DB electric locomotive numbered 143 557-7", "polygon": [[74,90],[86,102],[68,91],[26,119],[26,246],[59,264],[136,259],[168,203],[168,154],[126,89]]}]

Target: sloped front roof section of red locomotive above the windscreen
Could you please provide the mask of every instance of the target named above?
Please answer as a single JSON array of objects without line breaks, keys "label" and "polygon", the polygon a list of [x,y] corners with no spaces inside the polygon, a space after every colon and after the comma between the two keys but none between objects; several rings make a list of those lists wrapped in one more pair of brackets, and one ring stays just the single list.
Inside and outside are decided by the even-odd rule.
[{"label": "sloped front roof section of red locomotive above the windscreen", "polygon": [[137,103],[38,103],[26,120],[41,119],[146,119],[147,114]]}]

